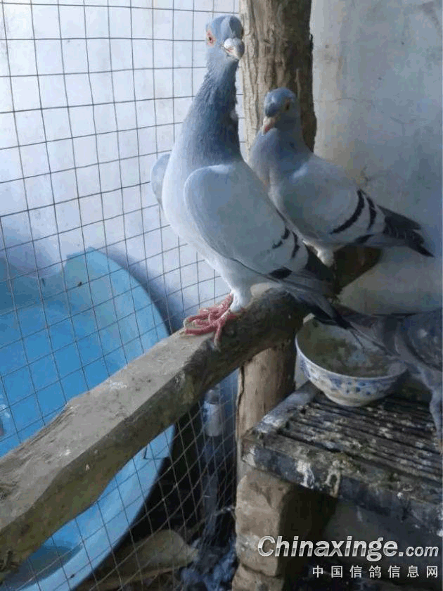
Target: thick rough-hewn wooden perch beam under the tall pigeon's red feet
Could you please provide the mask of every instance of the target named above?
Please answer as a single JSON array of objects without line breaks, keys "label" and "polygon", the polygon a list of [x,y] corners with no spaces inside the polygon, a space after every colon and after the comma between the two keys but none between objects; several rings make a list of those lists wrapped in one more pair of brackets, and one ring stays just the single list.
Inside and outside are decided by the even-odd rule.
[{"label": "thick rough-hewn wooden perch beam under the tall pigeon's red feet", "polygon": [[[355,270],[354,278],[362,272]],[[175,333],[72,398],[49,425],[2,457],[0,580],[94,503],[117,471],[208,388],[293,338],[297,310],[290,295],[268,291],[226,326],[219,350],[212,337]]]}]

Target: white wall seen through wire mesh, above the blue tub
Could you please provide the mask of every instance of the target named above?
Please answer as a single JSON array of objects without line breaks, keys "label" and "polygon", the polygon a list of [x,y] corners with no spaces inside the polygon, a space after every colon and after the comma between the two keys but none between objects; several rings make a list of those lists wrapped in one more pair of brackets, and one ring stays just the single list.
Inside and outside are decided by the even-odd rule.
[{"label": "white wall seen through wire mesh, above the blue tub", "polygon": [[2,3],[0,259],[44,277],[103,250],[173,329],[226,293],[148,179],[203,80],[205,24],[237,11],[238,0]]}]

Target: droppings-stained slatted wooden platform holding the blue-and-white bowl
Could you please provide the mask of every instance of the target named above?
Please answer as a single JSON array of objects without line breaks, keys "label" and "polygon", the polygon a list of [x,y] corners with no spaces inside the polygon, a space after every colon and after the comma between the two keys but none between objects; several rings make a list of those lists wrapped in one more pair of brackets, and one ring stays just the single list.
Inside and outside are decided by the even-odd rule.
[{"label": "droppings-stained slatted wooden platform holding the blue-and-white bowl", "polygon": [[242,457],[290,482],[442,535],[442,462],[431,426],[418,402],[390,397],[349,409],[319,395],[302,407],[278,405],[243,438]]}]

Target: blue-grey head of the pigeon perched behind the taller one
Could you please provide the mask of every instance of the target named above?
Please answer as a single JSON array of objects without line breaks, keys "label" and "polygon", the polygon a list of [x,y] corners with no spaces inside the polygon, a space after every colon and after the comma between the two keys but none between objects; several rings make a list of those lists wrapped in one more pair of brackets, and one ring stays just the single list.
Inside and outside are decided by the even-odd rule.
[{"label": "blue-grey head of the pigeon perched behind the taller one", "polygon": [[297,96],[288,88],[271,90],[264,97],[264,120],[262,133],[269,129],[293,129],[295,125],[300,127],[300,106]]}]

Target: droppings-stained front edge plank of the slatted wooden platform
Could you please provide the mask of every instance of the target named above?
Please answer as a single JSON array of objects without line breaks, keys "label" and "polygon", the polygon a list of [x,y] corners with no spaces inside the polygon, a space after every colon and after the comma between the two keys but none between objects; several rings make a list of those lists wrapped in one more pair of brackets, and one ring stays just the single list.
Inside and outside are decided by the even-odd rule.
[{"label": "droppings-stained front edge plank of the slatted wooden platform", "polygon": [[325,454],[313,445],[294,447],[283,436],[261,445],[245,436],[242,457],[250,466],[342,501],[441,535],[441,485],[406,474],[387,473],[375,464]]}]

